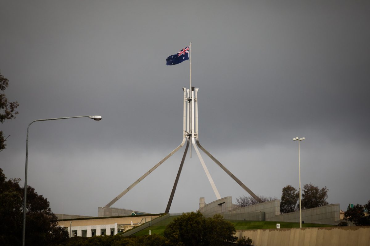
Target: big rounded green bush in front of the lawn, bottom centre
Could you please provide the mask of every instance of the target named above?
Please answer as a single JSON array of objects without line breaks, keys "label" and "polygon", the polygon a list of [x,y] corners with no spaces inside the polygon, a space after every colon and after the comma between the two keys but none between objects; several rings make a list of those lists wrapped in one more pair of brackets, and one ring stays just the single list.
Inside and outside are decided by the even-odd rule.
[{"label": "big rounded green bush in front of the lawn, bottom centre", "polygon": [[235,227],[221,215],[205,218],[201,212],[189,212],[174,219],[164,235],[172,246],[218,246],[235,242]]}]

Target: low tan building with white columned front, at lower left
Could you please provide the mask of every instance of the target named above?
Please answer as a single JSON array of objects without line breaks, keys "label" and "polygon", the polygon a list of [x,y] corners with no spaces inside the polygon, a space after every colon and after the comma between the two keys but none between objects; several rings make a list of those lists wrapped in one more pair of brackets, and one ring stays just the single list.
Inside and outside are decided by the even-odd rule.
[{"label": "low tan building with white columned front, at lower left", "polygon": [[[131,211],[132,212],[132,211]],[[127,231],[135,226],[149,222],[157,215],[142,215],[142,216],[122,216],[115,218],[85,218],[85,219],[70,219],[58,221],[58,225],[67,228],[70,236],[91,237],[96,235],[116,235],[119,232]],[[70,223],[72,222],[72,224]]]}]

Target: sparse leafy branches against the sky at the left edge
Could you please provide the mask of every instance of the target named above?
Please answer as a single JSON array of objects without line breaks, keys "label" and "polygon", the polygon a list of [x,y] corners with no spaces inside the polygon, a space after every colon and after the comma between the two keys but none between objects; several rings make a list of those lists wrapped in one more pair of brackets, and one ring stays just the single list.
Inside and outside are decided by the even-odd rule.
[{"label": "sparse leafy branches against the sky at the left edge", "polygon": [[[4,78],[4,76],[0,73],[0,123],[4,123],[6,119],[14,119],[16,118],[16,108],[19,106],[17,101],[9,102],[8,98],[4,94],[4,90],[9,86],[9,80]],[[10,135],[9,135],[10,136]],[[9,136],[5,137],[3,131],[0,131],[0,152],[1,150],[5,149],[6,146],[6,139]]]}]

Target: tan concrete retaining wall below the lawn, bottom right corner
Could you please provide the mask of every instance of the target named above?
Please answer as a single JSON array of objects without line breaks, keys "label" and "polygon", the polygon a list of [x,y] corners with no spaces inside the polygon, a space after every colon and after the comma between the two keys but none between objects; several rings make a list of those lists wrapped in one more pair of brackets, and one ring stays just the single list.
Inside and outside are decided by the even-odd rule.
[{"label": "tan concrete retaining wall below the lawn, bottom right corner", "polygon": [[370,226],[238,230],[258,246],[369,246]]}]

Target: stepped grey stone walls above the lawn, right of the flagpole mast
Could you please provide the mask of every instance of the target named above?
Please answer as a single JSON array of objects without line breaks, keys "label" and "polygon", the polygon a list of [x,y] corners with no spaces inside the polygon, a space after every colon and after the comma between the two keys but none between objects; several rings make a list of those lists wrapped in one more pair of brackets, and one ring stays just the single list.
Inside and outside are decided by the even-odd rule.
[{"label": "stepped grey stone walls above the lawn, right of the flagpole mast", "polygon": [[[261,220],[299,222],[299,211],[280,214],[280,201],[273,200],[249,207],[237,207],[232,204],[231,197],[224,197],[206,204],[204,198],[199,200],[199,211],[204,216],[221,214],[225,219]],[[340,222],[339,204],[303,209],[302,221],[306,223],[337,225]]]}]

